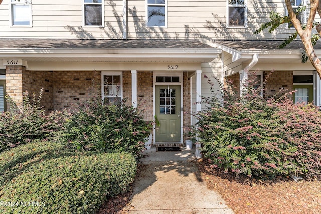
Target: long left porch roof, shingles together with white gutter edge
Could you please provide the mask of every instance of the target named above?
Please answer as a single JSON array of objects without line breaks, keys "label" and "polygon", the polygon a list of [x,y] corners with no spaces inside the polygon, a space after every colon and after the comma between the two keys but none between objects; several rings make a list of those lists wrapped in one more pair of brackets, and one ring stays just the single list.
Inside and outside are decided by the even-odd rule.
[{"label": "long left porch roof, shingles together with white gutter edge", "polygon": [[211,62],[221,50],[199,40],[0,39],[0,60]]}]

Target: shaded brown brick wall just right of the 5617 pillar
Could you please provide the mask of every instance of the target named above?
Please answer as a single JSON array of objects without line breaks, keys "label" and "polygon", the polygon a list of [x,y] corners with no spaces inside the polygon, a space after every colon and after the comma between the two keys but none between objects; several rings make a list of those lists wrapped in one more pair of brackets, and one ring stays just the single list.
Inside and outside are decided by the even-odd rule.
[{"label": "shaded brown brick wall just right of the 5617 pillar", "polygon": [[22,75],[23,91],[28,91],[29,97],[32,98],[35,94],[39,98],[41,88],[43,88],[42,99],[40,104],[45,107],[45,110],[52,111],[53,103],[53,87],[54,78],[53,72],[50,71],[29,71],[26,70]]}]

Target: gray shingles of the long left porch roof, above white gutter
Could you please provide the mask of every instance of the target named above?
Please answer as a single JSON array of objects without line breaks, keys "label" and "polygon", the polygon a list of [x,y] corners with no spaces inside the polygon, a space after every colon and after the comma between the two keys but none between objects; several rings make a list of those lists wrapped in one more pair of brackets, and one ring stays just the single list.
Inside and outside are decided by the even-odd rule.
[{"label": "gray shingles of the long left porch roof, above white gutter", "polygon": [[199,40],[0,39],[0,49],[48,48],[213,48]]}]

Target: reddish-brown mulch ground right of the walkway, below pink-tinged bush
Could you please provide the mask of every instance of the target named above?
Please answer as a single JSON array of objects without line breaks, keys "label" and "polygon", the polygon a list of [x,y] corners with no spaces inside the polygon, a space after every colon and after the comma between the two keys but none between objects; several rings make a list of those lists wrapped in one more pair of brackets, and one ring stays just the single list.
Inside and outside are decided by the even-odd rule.
[{"label": "reddish-brown mulch ground right of the walkway, below pink-tinged bush", "polygon": [[235,213],[321,213],[321,181],[275,178],[264,181],[235,178],[223,170],[212,170],[199,161],[202,178],[209,189],[220,193]]}]

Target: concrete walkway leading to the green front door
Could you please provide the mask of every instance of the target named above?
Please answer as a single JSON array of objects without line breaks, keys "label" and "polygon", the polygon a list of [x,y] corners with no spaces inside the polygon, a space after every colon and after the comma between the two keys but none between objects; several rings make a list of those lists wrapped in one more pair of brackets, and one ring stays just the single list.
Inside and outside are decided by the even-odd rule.
[{"label": "concrete walkway leading to the green front door", "polygon": [[194,148],[156,152],[148,157],[134,183],[128,213],[233,213],[221,196],[209,190],[198,172]]}]

